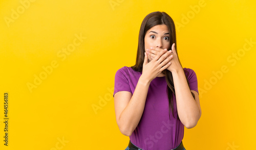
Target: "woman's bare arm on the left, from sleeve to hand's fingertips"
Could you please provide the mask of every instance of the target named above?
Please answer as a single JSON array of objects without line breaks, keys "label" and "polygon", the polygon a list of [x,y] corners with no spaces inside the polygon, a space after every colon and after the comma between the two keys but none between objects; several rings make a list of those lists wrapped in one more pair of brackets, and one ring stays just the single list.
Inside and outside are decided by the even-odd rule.
[{"label": "woman's bare arm on the left, from sleeve to hand's fingertips", "polygon": [[142,74],[133,95],[128,91],[119,91],[114,95],[116,121],[123,135],[132,135],[144,111],[148,87],[151,81],[170,65],[168,62],[172,57],[168,57],[170,53],[166,52],[166,50],[159,53],[149,63],[145,54]]}]

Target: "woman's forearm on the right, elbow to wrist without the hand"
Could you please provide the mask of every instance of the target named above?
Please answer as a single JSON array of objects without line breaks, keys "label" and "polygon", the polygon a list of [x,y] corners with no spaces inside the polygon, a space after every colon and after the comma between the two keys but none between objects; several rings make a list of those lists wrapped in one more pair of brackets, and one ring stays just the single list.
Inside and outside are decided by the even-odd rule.
[{"label": "woman's forearm on the right, elbow to wrist without the hand", "polygon": [[183,68],[172,74],[179,118],[186,128],[193,128],[201,116],[199,106],[191,94]]}]

